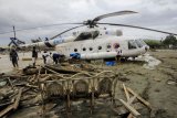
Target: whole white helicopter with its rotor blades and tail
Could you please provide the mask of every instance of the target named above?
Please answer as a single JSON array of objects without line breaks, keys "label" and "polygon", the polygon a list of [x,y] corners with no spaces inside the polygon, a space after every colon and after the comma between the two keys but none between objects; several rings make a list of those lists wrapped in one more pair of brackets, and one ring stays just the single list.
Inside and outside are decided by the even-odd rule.
[{"label": "whole white helicopter with its rotor blades and tail", "polygon": [[[98,58],[115,58],[115,57],[137,57],[140,54],[147,52],[149,46],[143,40],[134,39],[122,39],[123,32],[117,29],[106,29],[98,25],[116,25],[143,29],[154,32],[160,32],[165,34],[175,33],[164,32],[159,30],[153,30],[148,28],[134,26],[127,24],[116,24],[116,23],[98,23],[100,20],[114,15],[132,14],[137,13],[134,11],[118,11],[113,13],[103,14],[96,17],[93,20],[87,20],[83,23],[63,23],[63,24],[82,24],[79,26],[71,28],[53,37],[49,41],[37,42],[31,44],[21,44],[19,47],[55,47],[55,51],[60,54],[65,55],[65,57],[71,57],[76,55],[81,60],[98,60]],[[71,30],[87,26],[85,30],[73,32],[71,36],[62,37],[61,34],[69,32]],[[14,42],[14,41],[13,41]]]}]

